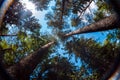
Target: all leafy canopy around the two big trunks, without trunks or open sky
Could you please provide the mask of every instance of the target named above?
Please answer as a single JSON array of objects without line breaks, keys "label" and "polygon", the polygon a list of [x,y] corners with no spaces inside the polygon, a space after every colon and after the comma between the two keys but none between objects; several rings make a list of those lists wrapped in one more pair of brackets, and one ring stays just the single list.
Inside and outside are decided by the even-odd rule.
[{"label": "all leafy canopy around the two big trunks, without trunks or open sky", "polygon": [[[47,10],[52,0],[30,0],[36,5],[36,9]],[[93,0],[55,0],[53,12],[45,15],[48,27],[58,34],[57,38],[62,36],[65,31],[71,31],[71,26],[83,26],[83,15],[89,8]],[[98,21],[112,13],[110,7],[103,1],[97,2],[98,11],[95,13],[94,20]],[[90,14],[87,14],[90,16]],[[86,15],[85,15],[86,16]],[[87,16],[87,18],[88,18]],[[86,18],[86,17],[84,17]],[[43,35],[40,33],[41,25],[30,10],[15,0],[8,9],[0,31],[9,33],[9,27],[15,25],[16,37],[0,37],[0,53],[2,53],[2,62],[8,68],[19,62],[31,52],[35,52],[49,41],[60,41],[55,35]],[[91,21],[90,17],[88,20]],[[91,21],[92,22],[92,21]],[[9,25],[9,26],[8,26]],[[7,27],[8,26],[8,27]],[[100,80],[114,59],[118,55],[120,48],[120,30],[111,31],[104,42],[101,44],[93,38],[76,37],[62,40],[68,53],[74,53],[76,58],[82,60],[80,68],[74,66],[68,59],[55,56],[49,58],[46,54],[40,63],[38,76],[40,80]],[[12,41],[12,42],[11,42]],[[63,44],[61,44],[63,45]],[[54,46],[55,47],[55,46]],[[57,48],[55,47],[56,51]],[[3,52],[2,52],[3,51]],[[59,51],[59,50],[58,50]],[[52,54],[54,48],[49,48],[48,53]],[[56,53],[57,54],[57,53]],[[61,52],[62,54],[62,52]],[[68,56],[70,57],[70,56]],[[104,63],[103,63],[104,62]],[[33,73],[34,75],[36,73]],[[52,77],[51,77],[52,76]]]}]

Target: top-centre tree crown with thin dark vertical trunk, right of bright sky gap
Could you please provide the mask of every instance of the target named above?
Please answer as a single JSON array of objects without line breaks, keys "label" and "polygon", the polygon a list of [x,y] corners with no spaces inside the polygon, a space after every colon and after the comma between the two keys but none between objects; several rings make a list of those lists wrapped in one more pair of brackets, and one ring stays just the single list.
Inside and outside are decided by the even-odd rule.
[{"label": "top-centre tree crown with thin dark vertical trunk, right of bright sky gap", "polygon": [[46,15],[48,26],[60,30],[78,26],[82,20],[81,16],[84,15],[91,2],[92,0],[56,0],[55,6],[52,7],[53,14],[49,12]]}]

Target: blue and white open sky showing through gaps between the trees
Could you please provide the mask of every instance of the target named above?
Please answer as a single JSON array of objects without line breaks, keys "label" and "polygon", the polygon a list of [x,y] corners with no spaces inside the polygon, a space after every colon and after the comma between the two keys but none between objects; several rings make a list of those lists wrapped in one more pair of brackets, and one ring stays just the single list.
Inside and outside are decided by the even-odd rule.
[{"label": "blue and white open sky showing through gaps between the trees", "polygon": [[[29,2],[28,0],[22,0],[22,2],[25,4],[25,6],[26,6],[27,9],[29,9],[29,10],[32,11],[33,16],[35,16],[37,19],[39,19],[39,23],[42,25],[42,28],[41,28],[40,32],[43,33],[43,34],[44,33],[52,34],[52,30],[50,28],[48,28],[48,26],[46,24],[45,14],[48,11],[52,11],[51,7],[54,6],[55,2],[52,1],[49,4],[49,9],[48,10],[43,10],[43,11],[36,11],[34,4],[31,3],[31,2]],[[30,5],[33,5],[33,6],[30,6]],[[92,13],[91,13],[90,9],[92,10]],[[95,5],[94,2],[91,4],[90,9],[86,10],[85,14],[89,13],[89,14],[93,15],[94,11],[97,10],[97,6]],[[79,15],[79,13],[78,13],[78,15]],[[83,15],[82,17],[83,17],[83,21],[86,22],[86,24],[89,24],[87,22],[85,16]],[[104,39],[106,38],[106,33],[107,32],[94,32],[94,33],[80,34],[80,35],[76,35],[76,36],[84,36],[86,38],[94,38],[94,39],[96,39],[99,42],[103,42]],[[57,51],[58,51],[57,54],[60,54],[61,56],[64,56],[64,57],[68,57],[68,54],[66,54],[66,55],[63,54],[63,53],[66,53],[66,51],[62,50],[61,48],[64,48],[64,46],[62,44],[57,48]],[[56,55],[56,53],[53,54],[53,55]],[[73,63],[75,63],[75,65],[80,66],[81,65],[80,59],[77,59],[77,60],[78,60],[78,62],[75,63],[75,61],[76,61],[75,55],[72,55],[72,58],[71,58],[70,61],[73,62]]]}]

